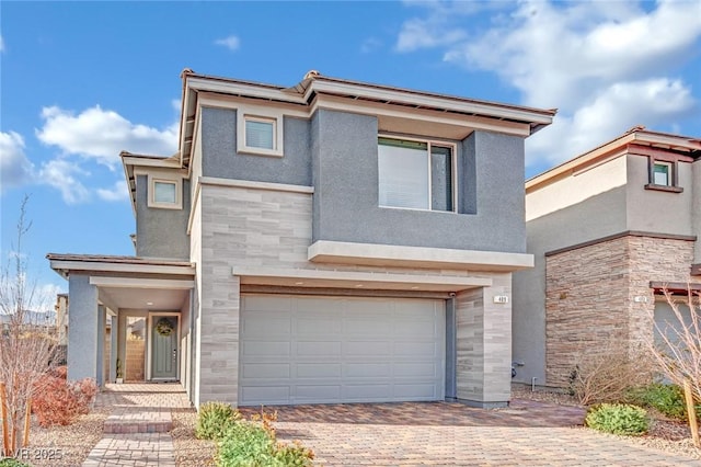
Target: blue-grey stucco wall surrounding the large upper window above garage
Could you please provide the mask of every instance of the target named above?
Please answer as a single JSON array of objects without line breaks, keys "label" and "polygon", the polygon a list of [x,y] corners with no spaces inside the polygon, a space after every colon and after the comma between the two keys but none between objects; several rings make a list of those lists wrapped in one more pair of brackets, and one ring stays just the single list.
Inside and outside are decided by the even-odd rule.
[{"label": "blue-grey stucco wall surrounding the large upper window above garage", "polygon": [[525,252],[521,138],[474,132],[453,141],[458,206],[476,212],[456,214],[379,207],[377,137],[374,116],[312,116],[314,240]]}]

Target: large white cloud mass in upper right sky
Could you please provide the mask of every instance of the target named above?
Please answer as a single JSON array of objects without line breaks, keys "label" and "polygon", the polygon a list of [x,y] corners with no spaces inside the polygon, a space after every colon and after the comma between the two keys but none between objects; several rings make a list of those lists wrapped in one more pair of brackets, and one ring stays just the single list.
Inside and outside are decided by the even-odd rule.
[{"label": "large white cloud mass in upper right sky", "polygon": [[426,16],[404,24],[398,49],[440,47],[446,61],[497,75],[524,104],[558,107],[555,123],[527,140],[529,163],[560,162],[633,125],[671,127],[698,105],[671,75],[698,59],[698,0],[509,5],[476,30],[471,13],[424,4]]}]

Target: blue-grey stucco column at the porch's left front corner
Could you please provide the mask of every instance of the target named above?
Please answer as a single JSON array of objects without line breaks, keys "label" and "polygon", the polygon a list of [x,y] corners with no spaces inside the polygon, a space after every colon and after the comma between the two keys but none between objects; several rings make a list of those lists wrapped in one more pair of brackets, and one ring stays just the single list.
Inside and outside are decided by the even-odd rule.
[{"label": "blue-grey stucco column at the porch's left front corner", "polygon": [[97,342],[102,342],[97,338],[97,287],[90,284],[90,276],[71,274],[68,295],[68,379],[97,380]]}]

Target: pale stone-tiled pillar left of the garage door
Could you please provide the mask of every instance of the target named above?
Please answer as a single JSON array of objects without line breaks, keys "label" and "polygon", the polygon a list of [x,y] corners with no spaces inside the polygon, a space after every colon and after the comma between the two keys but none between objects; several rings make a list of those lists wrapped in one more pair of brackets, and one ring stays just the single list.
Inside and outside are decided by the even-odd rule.
[{"label": "pale stone-tiled pillar left of the garage door", "polygon": [[230,266],[200,270],[198,317],[198,380],[195,405],[239,400],[240,280]]}]

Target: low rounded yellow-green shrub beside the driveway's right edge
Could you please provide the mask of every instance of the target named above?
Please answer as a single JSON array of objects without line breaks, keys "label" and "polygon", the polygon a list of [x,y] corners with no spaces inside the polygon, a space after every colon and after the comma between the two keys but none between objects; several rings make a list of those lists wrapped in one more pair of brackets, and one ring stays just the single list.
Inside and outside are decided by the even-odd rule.
[{"label": "low rounded yellow-green shrub beside the driveway's right edge", "polygon": [[613,434],[640,435],[650,428],[647,411],[627,403],[593,406],[585,421],[587,426]]}]

